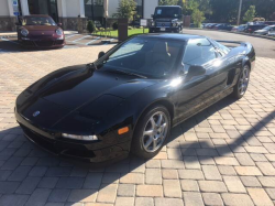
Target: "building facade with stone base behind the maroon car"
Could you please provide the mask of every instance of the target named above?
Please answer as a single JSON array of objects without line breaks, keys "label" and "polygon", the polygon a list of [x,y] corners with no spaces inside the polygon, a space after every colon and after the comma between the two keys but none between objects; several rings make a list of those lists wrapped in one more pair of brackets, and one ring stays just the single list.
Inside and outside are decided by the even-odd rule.
[{"label": "building facade with stone base behind the maroon car", "polygon": [[[109,0],[112,19],[120,0]],[[135,0],[136,17],[151,19],[158,0]],[[105,0],[0,0],[0,31],[14,31],[18,15],[48,14],[65,30],[78,30],[87,20],[105,23]]]}]

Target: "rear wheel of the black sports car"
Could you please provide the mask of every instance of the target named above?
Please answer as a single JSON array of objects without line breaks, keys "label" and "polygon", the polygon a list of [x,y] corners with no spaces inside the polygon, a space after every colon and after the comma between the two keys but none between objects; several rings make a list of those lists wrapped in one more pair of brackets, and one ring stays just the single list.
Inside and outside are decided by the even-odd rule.
[{"label": "rear wheel of the black sports car", "polygon": [[243,69],[240,73],[239,79],[234,86],[234,90],[232,94],[233,97],[237,99],[241,99],[248,90],[249,83],[250,83],[250,66],[244,65]]}]

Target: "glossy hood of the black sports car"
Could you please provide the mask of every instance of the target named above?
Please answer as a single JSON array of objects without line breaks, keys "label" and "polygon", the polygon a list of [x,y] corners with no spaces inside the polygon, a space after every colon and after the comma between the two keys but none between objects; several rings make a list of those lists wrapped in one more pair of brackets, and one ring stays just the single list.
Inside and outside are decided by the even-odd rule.
[{"label": "glossy hood of the black sports car", "polygon": [[[66,67],[40,79],[24,94],[75,110],[102,95],[129,98],[156,80],[108,71],[90,72],[86,65]],[[23,104],[23,102],[19,102]]]}]

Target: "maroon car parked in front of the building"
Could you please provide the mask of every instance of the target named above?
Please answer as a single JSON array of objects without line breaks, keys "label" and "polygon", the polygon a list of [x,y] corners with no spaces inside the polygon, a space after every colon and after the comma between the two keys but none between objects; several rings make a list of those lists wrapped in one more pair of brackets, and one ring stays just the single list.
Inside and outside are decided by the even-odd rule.
[{"label": "maroon car parked in front of the building", "polygon": [[25,15],[22,23],[18,24],[18,40],[24,47],[63,47],[65,45],[65,35],[48,15]]}]

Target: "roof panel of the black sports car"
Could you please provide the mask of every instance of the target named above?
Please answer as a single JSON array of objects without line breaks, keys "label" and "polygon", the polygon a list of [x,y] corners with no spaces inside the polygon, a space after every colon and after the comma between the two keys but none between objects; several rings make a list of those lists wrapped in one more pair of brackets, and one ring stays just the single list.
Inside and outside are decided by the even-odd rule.
[{"label": "roof panel of the black sports car", "polygon": [[202,36],[202,35],[176,34],[176,33],[151,33],[151,34],[140,34],[136,36],[150,37],[150,39],[178,40],[178,41],[184,41],[184,42],[187,42],[188,40],[194,40],[194,39],[206,39],[206,36]]}]

